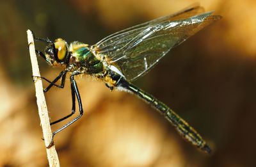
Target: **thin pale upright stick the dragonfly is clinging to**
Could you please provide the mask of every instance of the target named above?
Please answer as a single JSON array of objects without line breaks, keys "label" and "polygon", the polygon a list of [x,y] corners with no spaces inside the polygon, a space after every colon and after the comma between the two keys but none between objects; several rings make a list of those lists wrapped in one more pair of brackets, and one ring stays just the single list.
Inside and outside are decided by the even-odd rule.
[{"label": "thin pale upright stick the dragonfly is clinging to", "polygon": [[[35,52],[34,38],[29,29],[27,33],[28,33],[29,53],[31,58],[33,76],[40,77],[40,72],[39,72],[36,52]],[[38,77],[35,77],[34,82],[35,82],[35,89],[36,89],[36,103],[38,106],[38,114],[40,116],[40,121],[42,125],[45,147],[47,147],[51,143],[52,131],[51,131],[51,125],[49,122],[49,116],[48,116],[47,106],[45,102],[45,97],[44,97],[42,80],[38,79]],[[54,145],[52,145],[52,147],[50,148],[46,148],[46,153],[49,161],[49,166],[60,166],[58,154],[55,150]]]}]

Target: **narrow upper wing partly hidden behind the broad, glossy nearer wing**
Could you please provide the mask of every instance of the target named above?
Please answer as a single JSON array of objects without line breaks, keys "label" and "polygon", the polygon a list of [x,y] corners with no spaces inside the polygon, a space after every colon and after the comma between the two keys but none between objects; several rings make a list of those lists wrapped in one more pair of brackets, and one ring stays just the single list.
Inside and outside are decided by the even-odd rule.
[{"label": "narrow upper wing partly hidden behind the broad, glossy nearer wing", "polygon": [[121,49],[127,42],[129,42],[129,40],[134,38],[134,36],[140,34],[144,29],[148,28],[150,25],[157,24],[159,22],[164,22],[166,20],[187,19],[193,15],[202,12],[204,12],[204,8],[202,8],[202,6],[198,6],[198,4],[195,4],[172,15],[159,17],[157,19],[150,20],[148,22],[138,24],[131,28],[127,28],[122,31],[113,33],[112,35],[109,35],[106,38],[100,40],[95,45],[99,49],[99,53],[108,54],[111,58],[113,52],[116,52],[116,50]]}]

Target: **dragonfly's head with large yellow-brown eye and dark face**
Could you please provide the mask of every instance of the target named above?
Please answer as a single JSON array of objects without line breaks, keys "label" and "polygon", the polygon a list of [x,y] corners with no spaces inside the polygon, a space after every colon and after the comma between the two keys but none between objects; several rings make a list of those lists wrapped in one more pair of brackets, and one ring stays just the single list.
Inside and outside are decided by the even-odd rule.
[{"label": "dragonfly's head with large yellow-brown eye and dark face", "polygon": [[47,63],[52,66],[64,65],[68,59],[67,42],[58,38],[53,44],[50,44],[45,48],[45,59]]}]

